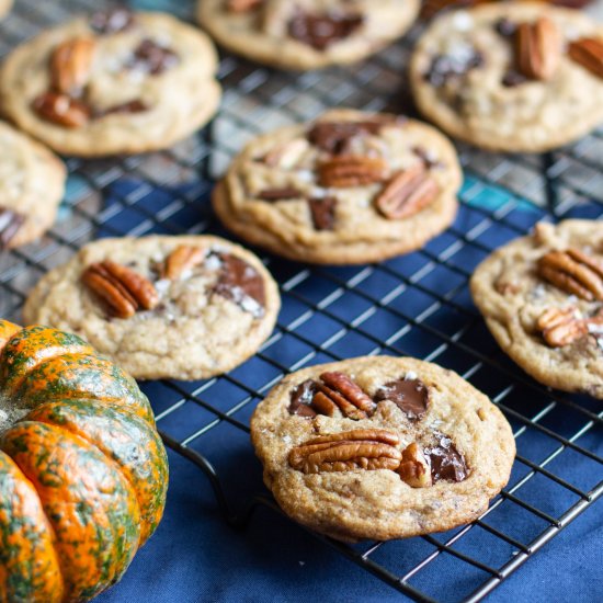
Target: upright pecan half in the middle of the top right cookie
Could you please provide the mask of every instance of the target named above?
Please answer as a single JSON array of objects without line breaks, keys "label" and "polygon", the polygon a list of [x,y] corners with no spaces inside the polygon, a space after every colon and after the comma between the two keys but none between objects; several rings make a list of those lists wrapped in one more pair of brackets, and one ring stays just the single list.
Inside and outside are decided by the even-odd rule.
[{"label": "upright pecan half in the middle of the top right cookie", "polygon": [[517,67],[527,78],[548,80],[561,59],[561,34],[546,16],[535,23],[521,23],[516,32]]}]

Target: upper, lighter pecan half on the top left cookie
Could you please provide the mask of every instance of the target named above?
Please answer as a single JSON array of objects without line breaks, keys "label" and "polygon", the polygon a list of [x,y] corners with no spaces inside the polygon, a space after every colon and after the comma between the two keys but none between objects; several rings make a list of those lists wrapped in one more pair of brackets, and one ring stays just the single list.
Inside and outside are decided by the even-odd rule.
[{"label": "upper, lighter pecan half on the top left cookie", "polygon": [[50,57],[50,84],[57,92],[78,96],[90,79],[96,43],[75,37],[59,44]]}]

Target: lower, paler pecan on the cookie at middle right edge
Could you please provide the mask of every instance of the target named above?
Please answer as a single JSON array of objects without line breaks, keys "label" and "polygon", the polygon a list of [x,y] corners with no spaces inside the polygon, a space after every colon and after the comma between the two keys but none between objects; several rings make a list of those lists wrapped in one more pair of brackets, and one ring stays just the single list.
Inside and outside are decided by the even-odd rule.
[{"label": "lower, paler pecan on the cookie at middle right edge", "polygon": [[564,348],[590,333],[603,332],[603,314],[580,318],[578,309],[548,308],[538,318],[536,326],[550,348]]}]

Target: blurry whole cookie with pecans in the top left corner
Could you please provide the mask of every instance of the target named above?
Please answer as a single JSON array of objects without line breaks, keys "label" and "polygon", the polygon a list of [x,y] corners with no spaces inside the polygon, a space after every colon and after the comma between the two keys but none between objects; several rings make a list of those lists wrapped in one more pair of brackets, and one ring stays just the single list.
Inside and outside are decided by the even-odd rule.
[{"label": "blurry whole cookie with pecans in the top left corner", "polygon": [[13,50],[0,72],[2,109],[66,155],[167,148],[216,112],[216,52],[163,13],[95,13]]}]

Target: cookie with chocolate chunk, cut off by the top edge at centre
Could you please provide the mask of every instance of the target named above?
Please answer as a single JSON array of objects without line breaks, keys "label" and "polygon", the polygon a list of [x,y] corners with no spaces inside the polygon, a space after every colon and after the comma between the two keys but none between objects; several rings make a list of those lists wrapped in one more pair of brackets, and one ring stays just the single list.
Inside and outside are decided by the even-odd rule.
[{"label": "cookie with chocolate chunk, cut off by the top edge at centre", "polygon": [[229,50],[283,69],[367,57],[401,36],[419,0],[200,0],[198,22]]}]

